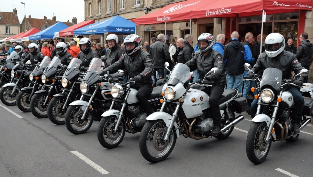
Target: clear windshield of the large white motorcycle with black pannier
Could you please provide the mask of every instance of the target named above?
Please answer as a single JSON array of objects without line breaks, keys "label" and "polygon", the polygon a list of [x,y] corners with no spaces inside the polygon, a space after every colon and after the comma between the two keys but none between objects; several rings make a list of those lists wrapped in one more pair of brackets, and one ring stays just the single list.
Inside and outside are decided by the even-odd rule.
[{"label": "clear windshield of the large white motorcycle with black pannier", "polygon": [[168,85],[175,85],[171,84],[172,82],[177,83],[177,81],[181,81],[184,84],[190,78],[190,69],[187,65],[178,63],[173,68],[170,77],[168,78]]}]

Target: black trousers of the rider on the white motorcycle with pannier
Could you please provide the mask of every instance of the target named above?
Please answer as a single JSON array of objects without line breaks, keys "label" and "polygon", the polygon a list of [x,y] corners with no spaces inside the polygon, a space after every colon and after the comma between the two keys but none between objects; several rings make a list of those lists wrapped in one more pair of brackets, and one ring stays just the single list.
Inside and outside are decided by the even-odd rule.
[{"label": "black trousers of the rider on the white motorcycle with pannier", "polygon": [[221,112],[219,110],[218,100],[223,94],[224,86],[214,85],[212,87],[206,87],[204,91],[210,96],[209,103],[211,106],[214,124],[219,125],[221,124]]}]

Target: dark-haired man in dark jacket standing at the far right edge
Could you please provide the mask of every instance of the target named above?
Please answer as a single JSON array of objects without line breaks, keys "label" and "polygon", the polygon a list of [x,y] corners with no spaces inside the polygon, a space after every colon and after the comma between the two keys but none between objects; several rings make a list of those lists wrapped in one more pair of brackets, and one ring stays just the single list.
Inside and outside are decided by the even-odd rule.
[{"label": "dark-haired man in dark jacket standing at the far right edge", "polygon": [[[312,43],[310,43],[310,41],[308,40],[308,37],[309,36],[307,33],[301,33],[299,37],[301,44],[298,47],[296,56],[301,66],[303,66],[305,69],[310,70],[313,48]],[[304,78],[303,83],[308,83],[308,76]]]}]

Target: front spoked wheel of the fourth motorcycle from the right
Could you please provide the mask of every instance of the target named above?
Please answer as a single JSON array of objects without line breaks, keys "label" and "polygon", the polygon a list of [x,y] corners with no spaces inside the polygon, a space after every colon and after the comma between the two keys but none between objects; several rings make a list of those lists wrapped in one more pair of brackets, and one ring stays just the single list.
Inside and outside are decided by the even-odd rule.
[{"label": "front spoked wheel of the fourth motorcycle from the right", "polygon": [[85,119],[81,119],[85,110],[81,105],[70,105],[65,113],[65,125],[69,132],[73,134],[82,134],[87,132],[92,125],[93,119],[88,111]]}]

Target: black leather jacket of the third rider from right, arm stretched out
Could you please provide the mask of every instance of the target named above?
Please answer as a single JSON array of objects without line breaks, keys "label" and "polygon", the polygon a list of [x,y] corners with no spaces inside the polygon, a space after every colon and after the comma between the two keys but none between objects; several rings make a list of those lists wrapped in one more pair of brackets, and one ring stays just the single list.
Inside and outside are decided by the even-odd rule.
[{"label": "black leather jacket of the third rider from right, arm stretched out", "polygon": [[[142,80],[146,81],[144,84],[152,84],[151,74],[153,71],[153,65],[151,55],[143,50],[138,50],[134,56],[124,55],[120,60],[115,62],[113,65],[104,69],[104,72],[109,71],[115,73],[117,70],[126,69],[129,75],[128,78],[133,78],[136,75],[141,75]],[[142,85],[141,83],[136,84],[137,86]]]}]

